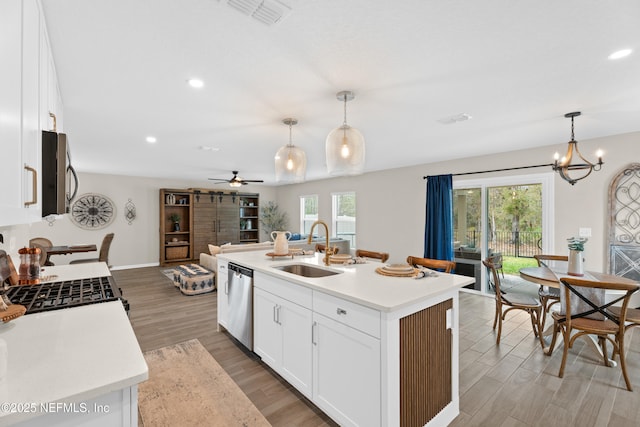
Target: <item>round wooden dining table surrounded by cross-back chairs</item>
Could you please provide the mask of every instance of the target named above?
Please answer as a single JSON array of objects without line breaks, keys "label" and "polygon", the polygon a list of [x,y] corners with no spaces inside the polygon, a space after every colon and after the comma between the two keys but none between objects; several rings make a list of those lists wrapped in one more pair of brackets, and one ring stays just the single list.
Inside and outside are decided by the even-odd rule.
[{"label": "round wooden dining table surrounded by cross-back chairs", "polygon": [[[560,288],[560,278],[563,276],[568,276],[566,271],[555,268],[552,269],[548,266],[540,266],[540,267],[524,267],[520,269],[520,277],[532,282],[537,283],[540,286],[548,286],[549,288]],[[576,276],[574,276],[576,277]],[[637,282],[627,279],[626,277],[615,276],[613,274],[600,273],[597,271],[586,271],[584,276],[580,277],[584,280],[591,281],[601,281],[601,282],[610,282],[610,283],[627,283],[627,284],[637,284]],[[550,344],[550,338],[553,334],[553,324],[549,325],[544,331],[542,331],[543,340]],[[592,336],[592,339],[587,340],[593,349],[600,354],[602,357],[602,349],[598,344],[597,340],[595,340]],[[550,349],[545,348],[545,353]],[[616,366],[616,362],[609,359],[609,362],[612,363],[612,366]]]}]

